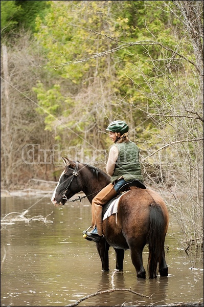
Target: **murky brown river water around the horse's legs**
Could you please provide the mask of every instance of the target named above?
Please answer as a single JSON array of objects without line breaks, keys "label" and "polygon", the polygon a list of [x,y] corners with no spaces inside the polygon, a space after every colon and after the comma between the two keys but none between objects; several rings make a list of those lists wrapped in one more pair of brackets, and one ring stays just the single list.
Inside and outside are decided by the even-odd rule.
[{"label": "murky brown river water around the horse's legs", "polygon": [[[109,272],[102,272],[94,242],[82,237],[90,226],[86,199],[54,207],[51,195],[1,198],[1,306],[66,306],[97,291],[130,289],[96,295],[79,306],[146,306],[175,302],[203,302],[203,261],[189,257],[171,236],[166,237],[169,276],[138,279],[125,251],[123,272],[115,270],[109,250]],[[20,213],[27,213],[20,216]],[[147,272],[148,250],[143,252]]]}]

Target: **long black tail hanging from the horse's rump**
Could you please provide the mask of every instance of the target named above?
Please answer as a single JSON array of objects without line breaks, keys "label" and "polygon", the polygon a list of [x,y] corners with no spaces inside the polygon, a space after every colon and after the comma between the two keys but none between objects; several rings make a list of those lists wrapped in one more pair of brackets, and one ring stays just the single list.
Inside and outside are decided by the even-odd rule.
[{"label": "long black tail hanging from the horse's rump", "polygon": [[148,273],[149,278],[156,278],[158,274],[157,266],[161,261],[164,251],[164,241],[166,236],[165,218],[161,206],[152,203],[150,205],[150,227],[147,234],[146,243],[149,247]]}]

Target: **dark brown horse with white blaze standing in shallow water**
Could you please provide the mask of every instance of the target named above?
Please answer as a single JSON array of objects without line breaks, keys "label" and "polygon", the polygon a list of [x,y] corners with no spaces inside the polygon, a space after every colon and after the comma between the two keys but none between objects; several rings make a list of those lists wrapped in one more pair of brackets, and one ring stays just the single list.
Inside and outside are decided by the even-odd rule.
[{"label": "dark brown horse with white blaze standing in shallow water", "polygon": [[[102,170],[92,165],[62,158],[65,168],[52,196],[55,206],[64,205],[76,193],[83,191],[92,203],[94,196],[110,179]],[[132,189],[122,194],[117,219],[116,214],[103,221],[104,238],[97,243],[102,270],[109,270],[108,250],[116,251],[116,269],[123,270],[124,251],[130,249],[137,277],[146,278],[142,252],[149,247],[149,278],[168,276],[164,242],[168,228],[168,211],[161,196],[150,189]]]}]

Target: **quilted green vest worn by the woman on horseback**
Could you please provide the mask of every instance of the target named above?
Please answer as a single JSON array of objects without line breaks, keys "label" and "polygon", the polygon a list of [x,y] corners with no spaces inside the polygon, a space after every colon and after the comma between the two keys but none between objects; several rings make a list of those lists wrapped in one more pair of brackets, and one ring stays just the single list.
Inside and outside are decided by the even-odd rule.
[{"label": "quilted green vest worn by the woman on horseback", "polygon": [[110,178],[111,183],[114,183],[114,181],[121,176],[125,181],[137,179],[144,182],[139,162],[138,146],[131,141],[127,143],[115,143],[112,146],[117,146],[119,155],[116,161],[114,174]]}]

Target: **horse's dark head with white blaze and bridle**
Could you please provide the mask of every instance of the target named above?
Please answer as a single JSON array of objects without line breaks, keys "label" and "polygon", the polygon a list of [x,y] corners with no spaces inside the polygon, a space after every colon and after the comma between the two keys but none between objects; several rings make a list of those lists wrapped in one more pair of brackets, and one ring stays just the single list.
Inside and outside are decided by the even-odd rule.
[{"label": "horse's dark head with white blaze and bridle", "polygon": [[75,193],[81,191],[81,186],[78,180],[79,163],[62,158],[65,168],[61,173],[59,182],[52,196],[52,203],[57,207],[64,205]]}]

